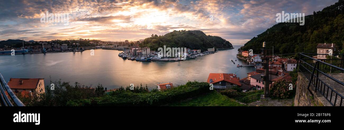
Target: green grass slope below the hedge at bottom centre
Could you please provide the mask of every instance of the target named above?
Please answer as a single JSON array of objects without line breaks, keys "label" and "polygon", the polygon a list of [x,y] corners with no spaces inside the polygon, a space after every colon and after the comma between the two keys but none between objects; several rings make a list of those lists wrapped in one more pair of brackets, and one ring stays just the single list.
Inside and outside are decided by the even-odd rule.
[{"label": "green grass slope below the hedge at bottom centre", "polygon": [[193,97],[192,99],[175,102],[169,106],[246,106],[216,91]]}]

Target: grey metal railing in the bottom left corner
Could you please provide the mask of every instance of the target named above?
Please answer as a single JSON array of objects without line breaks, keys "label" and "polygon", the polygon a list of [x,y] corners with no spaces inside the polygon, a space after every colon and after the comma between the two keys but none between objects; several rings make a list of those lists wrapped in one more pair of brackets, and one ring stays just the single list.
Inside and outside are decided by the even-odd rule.
[{"label": "grey metal railing in the bottom left corner", "polygon": [[[10,98],[7,96],[7,94]],[[17,96],[13,93],[10,86],[7,85],[6,80],[2,77],[0,73],[0,103],[1,106],[25,106],[23,102],[21,102]]]}]

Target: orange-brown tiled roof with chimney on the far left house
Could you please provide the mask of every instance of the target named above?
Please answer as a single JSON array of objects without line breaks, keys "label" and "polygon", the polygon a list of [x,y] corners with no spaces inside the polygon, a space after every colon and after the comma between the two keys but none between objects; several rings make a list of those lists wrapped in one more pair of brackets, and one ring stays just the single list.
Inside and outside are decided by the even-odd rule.
[{"label": "orange-brown tiled roof with chimney on the far left house", "polygon": [[[10,88],[36,89],[40,79],[44,78],[10,78],[10,81],[7,84]],[[23,81],[23,84],[20,84],[21,80]]]}]

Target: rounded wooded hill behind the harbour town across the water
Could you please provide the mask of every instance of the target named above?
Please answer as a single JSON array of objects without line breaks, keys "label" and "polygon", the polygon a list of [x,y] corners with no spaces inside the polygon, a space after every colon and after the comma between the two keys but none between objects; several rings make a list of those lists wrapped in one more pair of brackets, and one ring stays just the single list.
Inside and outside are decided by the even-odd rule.
[{"label": "rounded wooded hill behind the harbour town across the water", "polygon": [[219,36],[206,35],[202,31],[173,31],[163,36],[157,34],[144,39],[140,47],[150,47],[157,51],[159,47],[187,47],[191,49],[201,49],[206,51],[208,48],[232,48],[233,45]]}]

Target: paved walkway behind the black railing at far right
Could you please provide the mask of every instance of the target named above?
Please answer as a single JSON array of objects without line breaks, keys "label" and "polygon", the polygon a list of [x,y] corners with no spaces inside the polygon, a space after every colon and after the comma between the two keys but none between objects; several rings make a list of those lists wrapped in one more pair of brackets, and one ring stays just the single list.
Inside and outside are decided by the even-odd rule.
[{"label": "paved walkway behind the black railing at far right", "polygon": [[[331,76],[331,77],[339,80],[340,82],[344,83],[344,73],[332,73],[332,74],[329,74],[329,76]],[[325,84],[327,84],[330,87],[332,87],[339,94],[344,96],[344,86],[343,85],[335,82],[334,80],[332,80],[329,77],[324,76],[324,75],[320,75],[319,79],[322,80]],[[331,89],[329,89],[328,92],[327,92],[327,88],[328,87],[324,83],[319,83],[319,85],[320,85],[319,90],[321,90],[321,93],[323,95],[327,96],[327,99],[330,100],[331,99]],[[317,93],[319,93],[319,91]],[[332,99],[331,99],[332,104],[334,104],[335,97],[336,97],[336,94],[333,92],[332,93]],[[341,97],[338,95],[337,96],[337,100],[336,100],[336,106],[339,106],[340,102],[341,102]],[[342,101],[342,106],[344,106],[344,99]]]}]

